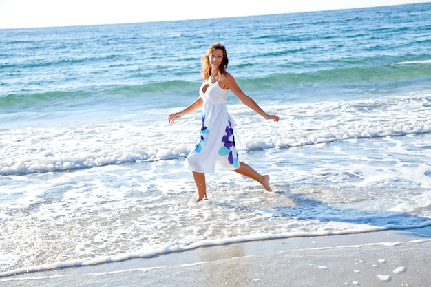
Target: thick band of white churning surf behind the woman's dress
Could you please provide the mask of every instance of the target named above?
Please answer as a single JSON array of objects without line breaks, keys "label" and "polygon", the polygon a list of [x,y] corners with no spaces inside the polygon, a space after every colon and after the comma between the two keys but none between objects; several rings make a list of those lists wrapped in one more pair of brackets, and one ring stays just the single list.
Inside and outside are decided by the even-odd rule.
[{"label": "thick band of white churning surf behind the woman's dress", "polygon": [[[246,152],[337,140],[430,133],[428,105],[429,96],[281,105],[275,111],[282,117],[280,123],[269,123],[259,116],[249,116],[248,108],[235,105],[232,108],[235,113],[232,114],[240,123],[236,129],[238,148],[240,152]],[[304,113],[306,117],[302,116]],[[160,123],[157,128],[148,125],[147,121],[135,122],[132,116],[125,122],[12,129],[0,134],[3,142],[0,174],[64,171],[184,158],[198,138],[198,114],[177,120],[174,125],[162,118],[165,114],[158,116]],[[431,157],[429,149],[407,151],[402,145],[390,149],[403,151],[406,155],[421,153]],[[427,168],[427,164],[422,164],[411,177],[417,178],[419,173],[426,173]],[[423,175],[421,181],[424,188],[430,187],[428,178]]]}]

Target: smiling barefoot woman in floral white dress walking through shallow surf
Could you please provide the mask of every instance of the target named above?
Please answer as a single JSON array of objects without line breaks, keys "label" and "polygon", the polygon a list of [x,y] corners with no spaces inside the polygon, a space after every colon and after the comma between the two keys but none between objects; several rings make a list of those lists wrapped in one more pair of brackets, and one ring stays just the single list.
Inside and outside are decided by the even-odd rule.
[{"label": "smiling barefoot woman in floral white dress walking through shallow surf", "polygon": [[185,163],[193,173],[193,179],[198,189],[198,201],[207,199],[205,173],[214,172],[215,167],[233,170],[252,178],[262,184],[267,191],[271,191],[269,176],[262,176],[248,164],[238,160],[232,129],[235,121],[229,116],[226,105],[229,89],[240,98],[242,103],[266,120],[278,122],[279,117],[266,114],[252,98],[242,92],[235,78],[226,72],[228,62],[224,45],[220,43],[211,45],[207,54],[202,57],[203,83],[200,87],[199,98],[189,107],[168,117],[169,123],[174,123],[177,118],[202,108],[200,141],[189,153]]}]

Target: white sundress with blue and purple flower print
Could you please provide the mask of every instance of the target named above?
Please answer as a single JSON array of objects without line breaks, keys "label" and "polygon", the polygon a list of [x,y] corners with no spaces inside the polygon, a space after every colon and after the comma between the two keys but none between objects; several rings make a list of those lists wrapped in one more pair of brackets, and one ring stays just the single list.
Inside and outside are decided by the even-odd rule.
[{"label": "white sundress with blue and purple flower print", "polygon": [[235,136],[232,127],[236,125],[227,111],[226,98],[229,89],[222,89],[218,81],[199,90],[202,105],[202,129],[200,140],[186,158],[185,166],[191,171],[213,173],[218,169],[235,170],[240,167]]}]

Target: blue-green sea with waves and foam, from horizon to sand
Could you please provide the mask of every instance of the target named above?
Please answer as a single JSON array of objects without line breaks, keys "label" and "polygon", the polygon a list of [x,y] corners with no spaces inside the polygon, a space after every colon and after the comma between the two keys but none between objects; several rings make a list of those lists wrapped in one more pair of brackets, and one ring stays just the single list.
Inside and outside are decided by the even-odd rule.
[{"label": "blue-green sea with waves and foam, from horizon to sand", "polygon": [[[431,3],[0,30],[0,277],[431,225]],[[200,59],[227,47],[242,162],[207,174]],[[1,280],[1,278],[0,278]]]}]

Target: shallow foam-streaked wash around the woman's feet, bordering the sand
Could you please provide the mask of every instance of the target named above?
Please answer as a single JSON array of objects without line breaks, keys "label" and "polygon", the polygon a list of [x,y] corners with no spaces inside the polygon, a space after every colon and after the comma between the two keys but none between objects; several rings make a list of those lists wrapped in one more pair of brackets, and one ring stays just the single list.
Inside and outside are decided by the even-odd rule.
[{"label": "shallow foam-streaked wash around the woman's feet, bordering the sand", "polygon": [[[249,240],[428,226],[428,158],[419,152],[428,140],[243,152],[244,161],[271,174],[274,192],[220,171],[207,177],[210,201],[194,206],[182,158],[3,176],[1,264],[24,272]],[[414,178],[418,171],[424,176]]]}]

